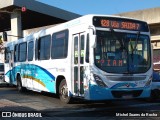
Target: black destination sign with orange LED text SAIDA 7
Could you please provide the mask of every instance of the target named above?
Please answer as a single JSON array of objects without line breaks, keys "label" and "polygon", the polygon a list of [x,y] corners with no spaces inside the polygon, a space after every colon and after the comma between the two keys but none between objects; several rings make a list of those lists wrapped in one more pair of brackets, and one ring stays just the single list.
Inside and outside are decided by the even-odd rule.
[{"label": "black destination sign with orange LED text SAIDA 7", "polygon": [[94,17],[93,25],[96,27],[106,27],[113,29],[133,30],[148,32],[148,25],[146,22],[112,17]]}]

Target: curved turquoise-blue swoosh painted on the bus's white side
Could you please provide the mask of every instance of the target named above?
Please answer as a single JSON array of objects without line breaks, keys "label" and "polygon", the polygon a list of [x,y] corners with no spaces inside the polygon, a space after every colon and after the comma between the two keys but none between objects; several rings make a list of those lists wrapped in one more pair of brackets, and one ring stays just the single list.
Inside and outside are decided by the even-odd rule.
[{"label": "curved turquoise-blue swoosh painted on the bus's white side", "polygon": [[6,73],[6,76],[10,78],[11,75],[11,83],[15,83],[16,81],[16,73],[20,73],[23,78],[34,79],[35,81],[40,81],[44,84],[44,86],[49,90],[49,92],[55,92],[55,76],[52,75],[48,70],[42,68],[41,66],[34,64],[22,64],[14,67],[12,70],[9,70]]}]

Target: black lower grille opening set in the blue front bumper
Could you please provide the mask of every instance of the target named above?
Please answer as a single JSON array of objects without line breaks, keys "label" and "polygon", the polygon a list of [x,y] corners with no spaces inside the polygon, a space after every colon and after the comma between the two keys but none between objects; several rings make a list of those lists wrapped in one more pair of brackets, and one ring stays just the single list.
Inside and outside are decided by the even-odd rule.
[{"label": "black lower grille opening set in the blue front bumper", "polygon": [[112,91],[112,95],[115,98],[122,98],[123,96],[126,95],[131,95],[132,97],[138,97],[141,95],[143,90],[134,90],[134,91]]}]

